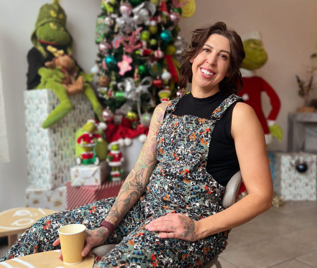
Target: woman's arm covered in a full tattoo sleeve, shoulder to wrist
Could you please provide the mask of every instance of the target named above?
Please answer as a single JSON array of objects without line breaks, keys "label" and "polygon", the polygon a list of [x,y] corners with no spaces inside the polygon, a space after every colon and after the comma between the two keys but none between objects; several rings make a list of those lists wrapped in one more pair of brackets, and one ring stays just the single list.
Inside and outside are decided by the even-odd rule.
[{"label": "woman's arm covered in a full tattoo sleeve, shoulder to wrist", "polygon": [[163,121],[165,109],[168,103],[169,102],[164,102],[156,107],[151,119],[149,133],[139,154],[138,161],[126,177],[117,199],[105,219],[111,222],[115,227],[127,214],[131,207],[133,207],[133,205],[139,200],[149,183],[149,179],[155,166],[158,163],[156,159],[156,132]]}]

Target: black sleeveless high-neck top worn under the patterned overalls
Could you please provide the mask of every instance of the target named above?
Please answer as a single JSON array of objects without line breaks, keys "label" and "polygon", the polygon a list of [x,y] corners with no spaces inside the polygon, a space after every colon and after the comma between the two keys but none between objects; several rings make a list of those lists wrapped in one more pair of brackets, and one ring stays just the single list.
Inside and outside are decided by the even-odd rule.
[{"label": "black sleeveless high-neck top worn under the patterned overalls", "polygon": [[[208,98],[195,98],[189,93],[178,102],[173,114],[210,119],[212,112],[227,97],[228,95],[221,91]],[[232,104],[217,121],[210,141],[207,172],[222,186],[226,186],[230,178],[240,169],[235,143],[231,137],[232,110],[236,103]]]}]

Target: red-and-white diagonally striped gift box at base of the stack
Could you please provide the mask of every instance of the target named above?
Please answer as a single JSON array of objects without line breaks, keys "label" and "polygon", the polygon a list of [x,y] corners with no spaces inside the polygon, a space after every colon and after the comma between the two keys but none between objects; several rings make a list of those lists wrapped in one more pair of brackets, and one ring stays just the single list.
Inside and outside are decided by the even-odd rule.
[{"label": "red-and-white diagonally striped gift box at base of the stack", "polygon": [[98,186],[72,186],[66,183],[67,209],[81,207],[109,197],[117,196],[124,181],[106,182]]}]

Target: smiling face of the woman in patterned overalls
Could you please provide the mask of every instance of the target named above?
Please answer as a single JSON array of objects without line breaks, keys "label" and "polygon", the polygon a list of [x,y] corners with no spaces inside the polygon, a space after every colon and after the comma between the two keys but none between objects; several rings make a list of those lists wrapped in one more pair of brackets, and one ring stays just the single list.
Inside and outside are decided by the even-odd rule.
[{"label": "smiling face of the woman in patterned overalls", "polygon": [[210,35],[196,58],[191,60],[192,88],[219,89],[219,83],[229,76],[230,53],[227,37]]}]

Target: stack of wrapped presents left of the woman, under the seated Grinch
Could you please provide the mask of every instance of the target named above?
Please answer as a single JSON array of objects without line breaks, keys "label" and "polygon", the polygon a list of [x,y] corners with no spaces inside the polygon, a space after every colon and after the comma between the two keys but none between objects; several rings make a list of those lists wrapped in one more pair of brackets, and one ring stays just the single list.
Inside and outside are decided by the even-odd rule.
[{"label": "stack of wrapped presents left of the woman, under the seated Grinch", "polygon": [[[59,104],[50,89],[24,92],[29,186],[26,206],[63,211],[116,196],[123,181],[109,182],[106,159],[76,164],[76,132],[94,118],[84,94],[69,97],[73,110],[43,129],[42,122]],[[106,158],[106,157],[105,157]]]}]

